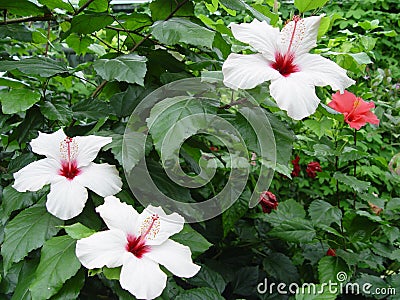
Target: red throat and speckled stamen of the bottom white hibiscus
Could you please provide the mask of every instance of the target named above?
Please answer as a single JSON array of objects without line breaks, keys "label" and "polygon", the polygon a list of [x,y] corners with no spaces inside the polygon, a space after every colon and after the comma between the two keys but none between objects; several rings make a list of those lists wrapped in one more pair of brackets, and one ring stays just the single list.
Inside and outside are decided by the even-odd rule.
[{"label": "red throat and speckled stamen of the bottom white hibiscus", "polygon": [[137,258],[142,258],[144,254],[150,252],[151,247],[146,245],[146,237],[153,239],[160,231],[160,217],[156,214],[147,217],[140,228],[141,234],[136,237],[133,234],[128,234],[126,240],[128,243],[125,246],[126,251],[132,253]]}]

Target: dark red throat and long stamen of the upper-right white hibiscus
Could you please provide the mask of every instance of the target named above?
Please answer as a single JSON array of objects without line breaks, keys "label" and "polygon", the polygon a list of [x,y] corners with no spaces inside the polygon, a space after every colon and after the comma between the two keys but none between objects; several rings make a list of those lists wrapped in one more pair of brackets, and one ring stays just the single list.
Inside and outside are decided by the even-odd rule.
[{"label": "dark red throat and long stamen of the upper-right white hibiscus", "polygon": [[293,40],[297,29],[297,23],[300,21],[299,16],[293,17],[294,26],[288,49],[284,55],[279,52],[275,53],[275,62],[271,64],[271,67],[281,73],[282,76],[288,77],[290,74],[300,71],[299,67],[294,64],[294,53],[291,51]]}]

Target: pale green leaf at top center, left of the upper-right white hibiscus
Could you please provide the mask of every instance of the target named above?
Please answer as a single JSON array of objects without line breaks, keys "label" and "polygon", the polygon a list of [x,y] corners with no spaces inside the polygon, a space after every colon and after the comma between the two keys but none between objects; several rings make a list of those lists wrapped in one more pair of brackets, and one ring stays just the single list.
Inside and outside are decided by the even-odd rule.
[{"label": "pale green leaf at top center, left of the upper-right white hibiscus", "polygon": [[189,20],[172,18],[157,21],[151,28],[153,36],[166,45],[186,43],[212,49],[215,32]]}]

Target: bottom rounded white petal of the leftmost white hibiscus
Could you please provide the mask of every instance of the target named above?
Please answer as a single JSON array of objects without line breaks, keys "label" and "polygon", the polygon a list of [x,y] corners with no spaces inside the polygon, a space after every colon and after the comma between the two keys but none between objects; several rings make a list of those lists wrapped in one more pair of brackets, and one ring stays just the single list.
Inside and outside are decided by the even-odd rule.
[{"label": "bottom rounded white petal of the leftmost white hibiscus", "polygon": [[88,194],[86,188],[75,180],[60,178],[60,181],[50,185],[46,207],[57,218],[68,220],[82,212]]}]

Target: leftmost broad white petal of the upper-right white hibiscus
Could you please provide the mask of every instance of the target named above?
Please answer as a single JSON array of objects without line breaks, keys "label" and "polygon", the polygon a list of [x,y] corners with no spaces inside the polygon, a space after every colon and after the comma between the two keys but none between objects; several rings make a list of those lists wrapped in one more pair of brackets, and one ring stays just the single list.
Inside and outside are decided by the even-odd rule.
[{"label": "leftmost broad white petal of the upper-right white hibiscus", "polygon": [[279,78],[278,71],[261,54],[232,53],[222,66],[224,84],[237,89],[251,89],[267,80]]}]

